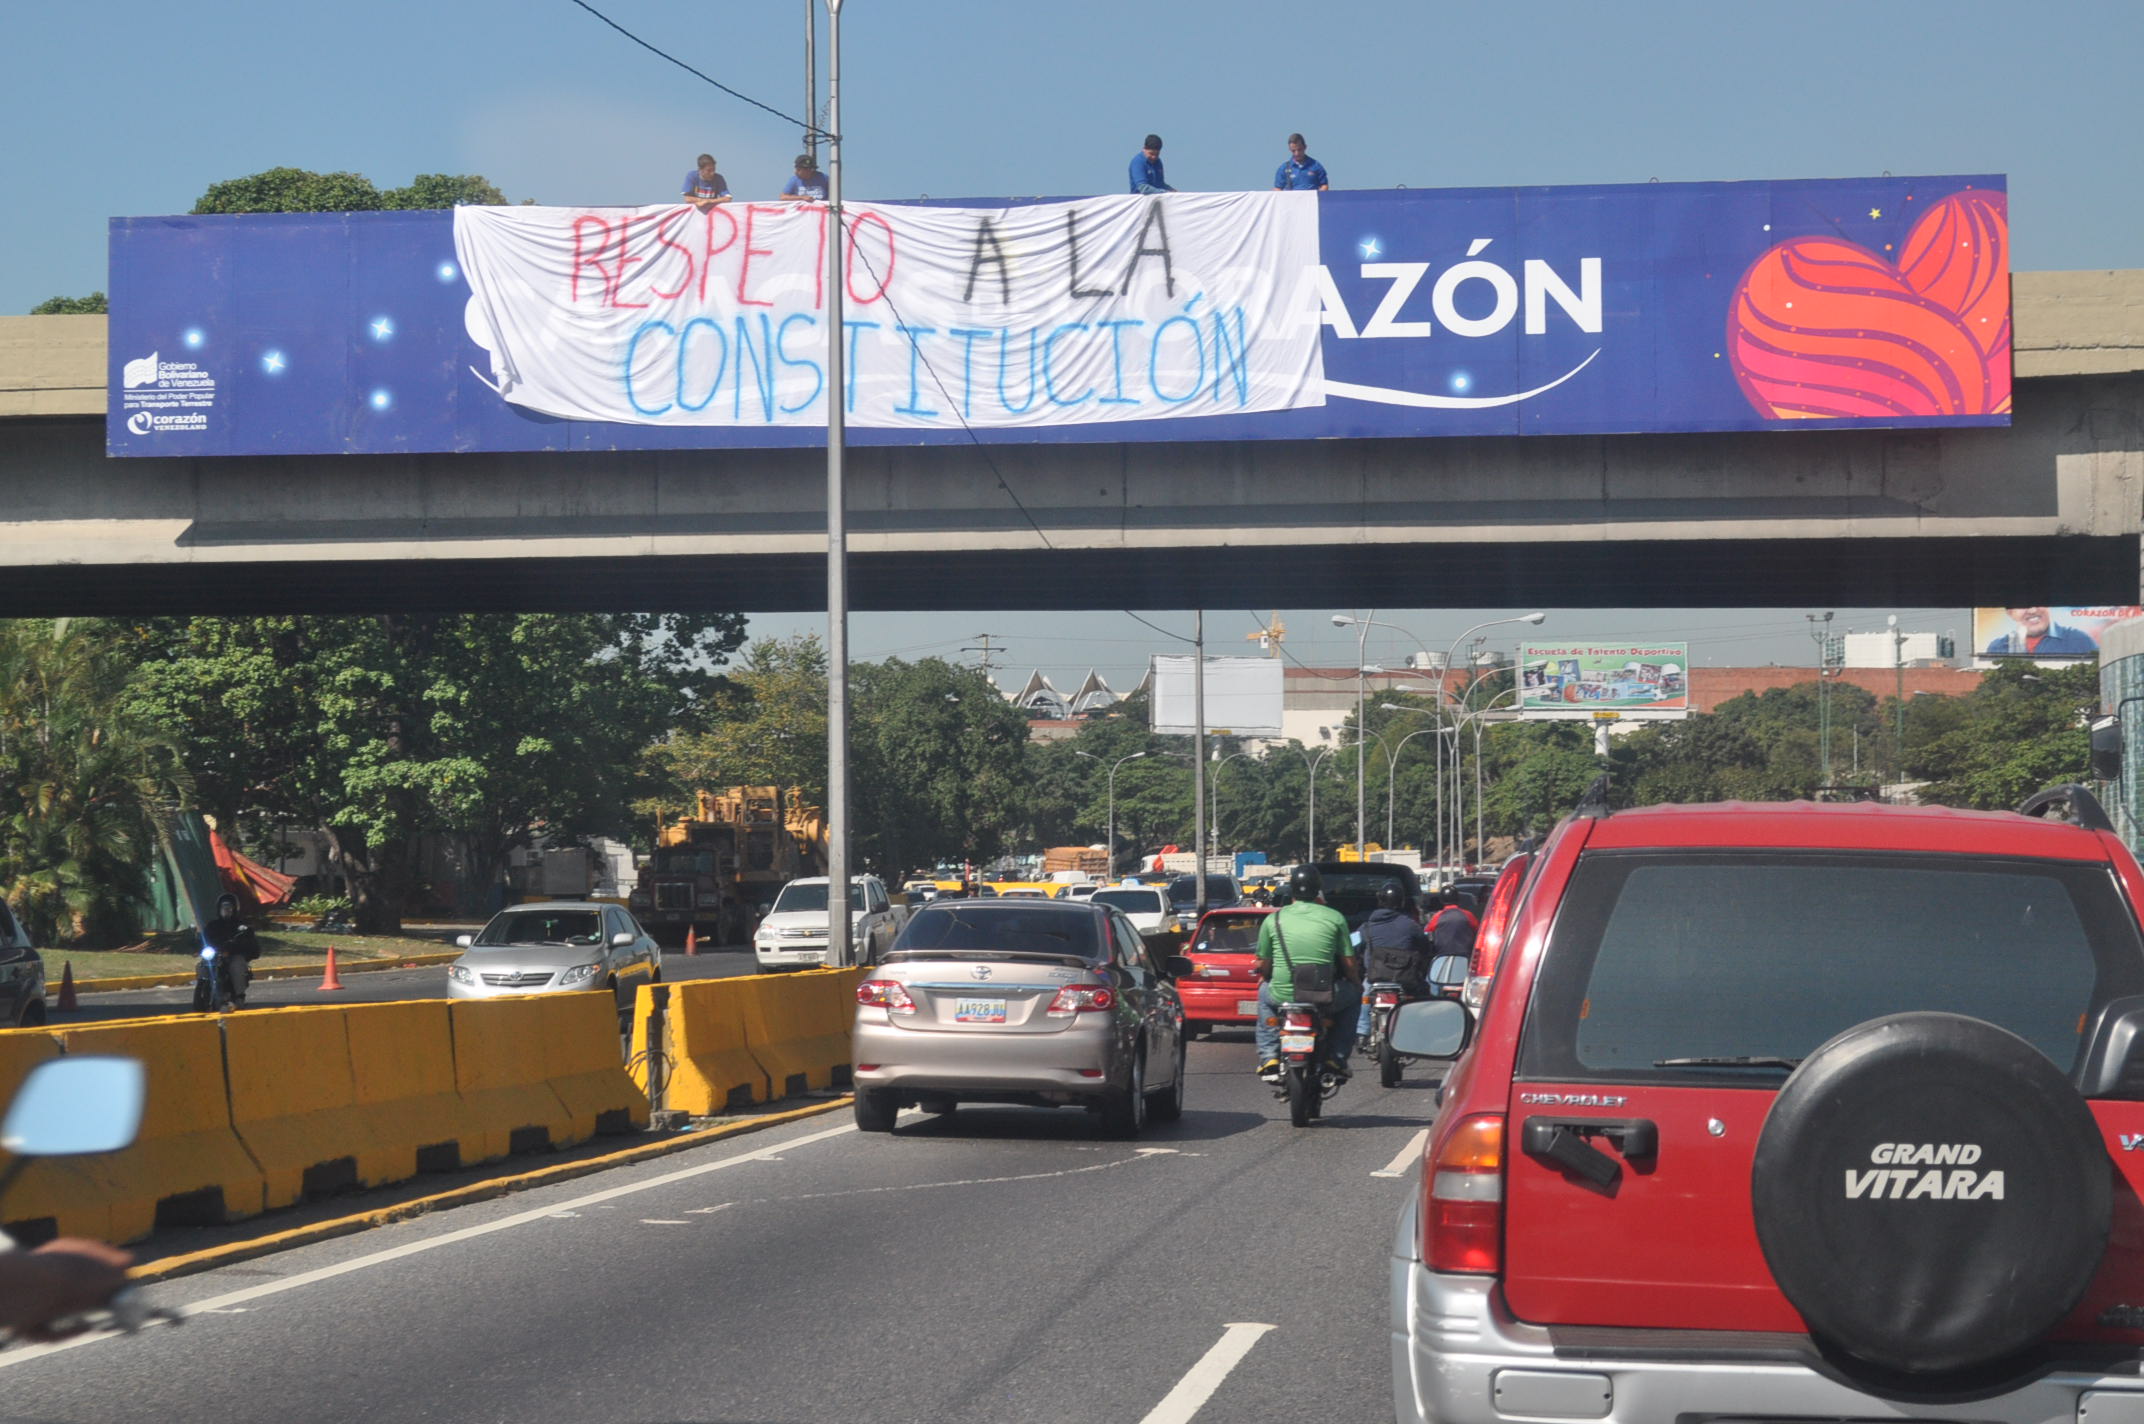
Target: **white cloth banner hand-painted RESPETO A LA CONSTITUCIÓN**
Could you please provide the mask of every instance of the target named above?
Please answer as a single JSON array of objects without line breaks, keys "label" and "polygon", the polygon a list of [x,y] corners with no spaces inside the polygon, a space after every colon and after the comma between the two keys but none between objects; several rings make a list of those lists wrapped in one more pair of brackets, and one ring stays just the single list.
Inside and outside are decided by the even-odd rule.
[{"label": "white cloth banner hand-painted RESPETO A LA CONSTITUCI\u00d3N", "polygon": [[[1042,427],[1325,403],[1316,193],[847,204],[847,414]],[[823,204],[457,208],[470,337],[515,405],[825,425]]]}]

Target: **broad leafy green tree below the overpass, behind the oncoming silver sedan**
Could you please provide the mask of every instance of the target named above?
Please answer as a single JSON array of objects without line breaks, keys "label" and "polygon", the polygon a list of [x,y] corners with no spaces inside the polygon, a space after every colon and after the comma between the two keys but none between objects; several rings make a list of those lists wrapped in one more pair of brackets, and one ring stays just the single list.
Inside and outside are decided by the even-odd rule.
[{"label": "broad leafy green tree below the overpass, behind the oncoming silver sedan", "polygon": [[476,896],[538,832],[628,830],[641,748],[693,723],[735,615],[197,618],[129,628],[131,703],[219,815],[319,826],[358,926],[392,931],[412,841],[461,834]]}]

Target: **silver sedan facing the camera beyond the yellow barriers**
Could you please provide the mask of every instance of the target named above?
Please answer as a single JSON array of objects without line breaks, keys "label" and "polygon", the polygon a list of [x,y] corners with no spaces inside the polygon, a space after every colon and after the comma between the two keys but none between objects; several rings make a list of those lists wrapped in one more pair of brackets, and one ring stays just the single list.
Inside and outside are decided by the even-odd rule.
[{"label": "silver sedan facing the camera beyond the yellow barriers", "polygon": [[446,997],[609,989],[620,997],[662,978],[662,950],[620,905],[545,901],[491,916],[446,969]]}]

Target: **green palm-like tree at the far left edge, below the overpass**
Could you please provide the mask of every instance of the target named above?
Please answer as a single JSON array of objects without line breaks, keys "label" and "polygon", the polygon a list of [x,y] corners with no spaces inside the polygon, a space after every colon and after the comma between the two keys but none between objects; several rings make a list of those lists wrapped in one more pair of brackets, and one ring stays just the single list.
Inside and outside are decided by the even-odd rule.
[{"label": "green palm-like tree at the far left edge, below the overpass", "polygon": [[187,793],[133,714],[129,665],[79,622],[0,624],[0,899],[39,944],[118,944]]}]

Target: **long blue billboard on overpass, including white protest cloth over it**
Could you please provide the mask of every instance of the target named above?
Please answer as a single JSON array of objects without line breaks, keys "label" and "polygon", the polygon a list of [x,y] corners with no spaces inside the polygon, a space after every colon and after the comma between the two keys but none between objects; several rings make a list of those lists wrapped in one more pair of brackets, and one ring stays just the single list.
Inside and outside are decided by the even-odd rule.
[{"label": "long blue billboard on overpass, including white protest cloth over it", "polygon": [[[851,204],[851,444],[2007,425],[2000,176]],[[111,455],[825,440],[825,208],[111,221]]]}]

